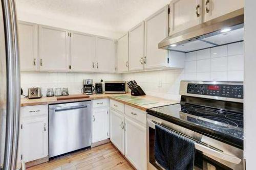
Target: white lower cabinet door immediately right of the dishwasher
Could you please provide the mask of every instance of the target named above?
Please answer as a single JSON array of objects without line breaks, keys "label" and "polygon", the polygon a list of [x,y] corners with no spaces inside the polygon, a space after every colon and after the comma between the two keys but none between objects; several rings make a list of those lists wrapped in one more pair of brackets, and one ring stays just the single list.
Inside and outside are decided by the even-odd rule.
[{"label": "white lower cabinet door immediately right of the dishwasher", "polygon": [[94,109],[92,115],[92,142],[98,142],[108,138],[108,109]]}]

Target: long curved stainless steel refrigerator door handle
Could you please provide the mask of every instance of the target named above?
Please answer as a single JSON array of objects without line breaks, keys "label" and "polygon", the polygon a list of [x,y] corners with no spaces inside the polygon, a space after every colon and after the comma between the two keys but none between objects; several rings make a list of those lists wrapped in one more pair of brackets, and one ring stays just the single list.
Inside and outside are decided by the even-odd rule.
[{"label": "long curved stainless steel refrigerator door handle", "polygon": [[20,110],[20,69],[18,51],[17,19],[14,0],[3,0],[7,63],[7,118],[4,169],[16,169],[19,110]]}]

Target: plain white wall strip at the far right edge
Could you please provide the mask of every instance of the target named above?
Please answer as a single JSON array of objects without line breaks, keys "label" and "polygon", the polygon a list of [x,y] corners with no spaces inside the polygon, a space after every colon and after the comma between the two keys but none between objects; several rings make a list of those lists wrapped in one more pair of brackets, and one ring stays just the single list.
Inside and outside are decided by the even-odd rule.
[{"label": "plain white wall strip at the far right edge", "polygon": [[245,0],[245,58],[244,58],[244,124],[246,169],[255,169],[256,153],[256,57],[255,57],[255,22],[256,2]]}]

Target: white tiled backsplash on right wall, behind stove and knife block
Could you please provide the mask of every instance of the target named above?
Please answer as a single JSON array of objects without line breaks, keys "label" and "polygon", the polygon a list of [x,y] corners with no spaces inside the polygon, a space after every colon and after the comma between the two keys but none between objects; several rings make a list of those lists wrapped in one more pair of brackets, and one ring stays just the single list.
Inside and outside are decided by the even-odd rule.
[{"label": "white tiled backsplash on right wall, behind stove and knife block", "polygon": [[123,74],[136,80],[146,94],[180,100],[181,80],[243,81],[243,42],[187,53],[185,68]]}]

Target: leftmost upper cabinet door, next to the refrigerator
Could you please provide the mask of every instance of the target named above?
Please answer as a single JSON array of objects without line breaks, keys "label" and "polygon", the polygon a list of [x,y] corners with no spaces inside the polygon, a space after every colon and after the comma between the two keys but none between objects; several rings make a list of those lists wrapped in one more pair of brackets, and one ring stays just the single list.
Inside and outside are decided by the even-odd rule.
[{"label": "leftmost upper cabinet door, next to the refrigerator", "polygon": [[38,71],[38,26],[35,23],[18,22],[20,70]]}]

